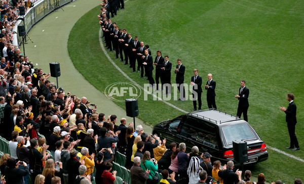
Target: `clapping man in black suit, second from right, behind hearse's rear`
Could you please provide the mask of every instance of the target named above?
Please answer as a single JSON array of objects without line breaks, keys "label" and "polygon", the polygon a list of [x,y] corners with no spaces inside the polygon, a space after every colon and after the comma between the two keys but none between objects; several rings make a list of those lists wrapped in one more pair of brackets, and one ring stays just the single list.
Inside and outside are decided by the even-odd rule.
[{"label": "clapping man in black suit, second from right, behind hearse's rear", "polygon": [[247,111],[249,107],[248,97],[249,97],[249,89],[245,86],[245,80],[241,81],[241,87],[239,89],[239,95],[236,95],[235,98],[239,99],[239,106],[237,116],[241,118],[243,113],[244,120],[248,122]]}]

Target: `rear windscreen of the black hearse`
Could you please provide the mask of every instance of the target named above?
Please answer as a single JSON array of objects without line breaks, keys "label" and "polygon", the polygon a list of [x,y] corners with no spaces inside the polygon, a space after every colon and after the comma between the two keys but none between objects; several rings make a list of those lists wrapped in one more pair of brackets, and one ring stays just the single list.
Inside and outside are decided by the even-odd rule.
[{"label": "rear windscreen of the black hearse", "polygon": [[222,130],[227,145],[232,144],[233,141],[247,141],[256,139],[247,123],[224,126],[222,127]]}]

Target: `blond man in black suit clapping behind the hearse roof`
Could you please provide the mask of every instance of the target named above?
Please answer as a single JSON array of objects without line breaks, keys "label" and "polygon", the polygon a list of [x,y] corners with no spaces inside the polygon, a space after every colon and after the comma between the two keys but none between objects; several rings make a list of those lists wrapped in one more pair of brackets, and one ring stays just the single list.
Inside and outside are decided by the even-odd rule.
[{"label": "blond man in black suit clapping behind the hearse roof", "polygon": [[209,109],[212,109],[212,107],[214,109],[216,109],[216,105],[215,105],[215,86],[216,86],[216,82],[212,79],[212,74],[209,73],[208,74],[208,81],[205,85],[205,89],[207,90],[207,104],[208,104]]}]

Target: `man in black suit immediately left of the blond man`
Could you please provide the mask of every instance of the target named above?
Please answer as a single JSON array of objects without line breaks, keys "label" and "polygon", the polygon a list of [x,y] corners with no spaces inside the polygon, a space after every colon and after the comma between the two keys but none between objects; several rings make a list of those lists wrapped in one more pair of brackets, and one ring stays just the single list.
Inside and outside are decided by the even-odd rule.
[{"label": "man in black suit immediately left of the blond man", "polygon": [[202,77],[199,76],[199,70],[194,69],[194,76],[191,77],[191,85],[193,85],[192,89],[192,98],[193,98],[193,110],[197,110],[197,102],[196,100],[198,99],[199,101],[199,111],[202,109]]}]

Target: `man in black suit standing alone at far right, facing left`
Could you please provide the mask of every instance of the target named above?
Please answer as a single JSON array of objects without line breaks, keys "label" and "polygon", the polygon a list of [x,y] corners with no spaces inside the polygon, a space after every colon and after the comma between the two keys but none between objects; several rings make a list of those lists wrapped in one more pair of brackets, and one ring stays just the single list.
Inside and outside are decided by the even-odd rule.
[{"label": "man in black suit standing alone at far right, facing left", "polygon": [[300,147],[295,135],[295,124],[297,123],[297,121],[296,121],[296,105],[293,102],[294,95],[287,94],[287,100],[289,101],[287,109],[283,106],[280,107],[280,109],[284,111],[286,114],[287,128],[290,137],[290,146],[287,147],[286,149],[292,149],[295,147],[294,149],[292,149],[292,151],[296,151],[299,150]]}]

